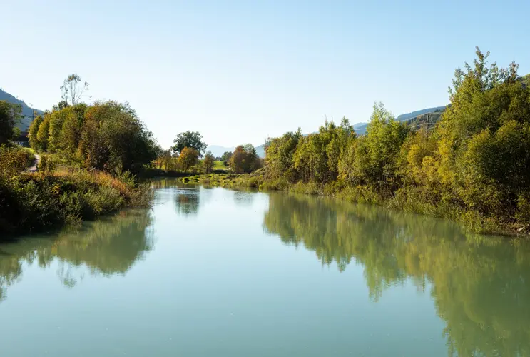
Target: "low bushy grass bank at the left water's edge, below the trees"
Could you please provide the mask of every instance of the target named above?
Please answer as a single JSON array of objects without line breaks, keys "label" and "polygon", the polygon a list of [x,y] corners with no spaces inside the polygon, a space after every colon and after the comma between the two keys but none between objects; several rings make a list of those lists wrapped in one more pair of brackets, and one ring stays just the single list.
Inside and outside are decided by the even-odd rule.
[{"label": "low bushy grass bank at the left water's edge, below the trees", "polygon": [[0,176],[0,233],[45,231],[121,208],[148,206],[152,194],[129,174],[76,170]]}]

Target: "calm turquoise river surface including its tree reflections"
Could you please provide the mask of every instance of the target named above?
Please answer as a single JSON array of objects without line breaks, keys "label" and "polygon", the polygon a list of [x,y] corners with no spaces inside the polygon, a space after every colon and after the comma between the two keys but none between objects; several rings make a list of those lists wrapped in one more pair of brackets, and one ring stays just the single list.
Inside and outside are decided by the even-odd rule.
[{"label": "calm turquoise river surface including its tree reflections", "polygon": [[0,355],[530,356],[530,248],[312,196],[178,187],[0,246]]}]

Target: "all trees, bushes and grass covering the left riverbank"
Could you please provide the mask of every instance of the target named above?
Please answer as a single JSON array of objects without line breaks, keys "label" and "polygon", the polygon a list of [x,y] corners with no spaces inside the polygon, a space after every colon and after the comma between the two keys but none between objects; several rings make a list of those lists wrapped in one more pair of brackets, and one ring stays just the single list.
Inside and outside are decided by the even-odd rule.
[{"label": "all trees, bushes and grass covering the left riverbank", "polygon": [[[68,76],[61,102],[31,123],[29,141],[41,154],[39,172],[26,172],[34,155],[9,139],[19,111],[2,111],[8,127],[0,147],[2,236],[78,223],[150,202],[151,188],[138,183],[136,175],[158,156],[153,134],[128,104],[81,103],[88,84],[80,83],[79,76]],[[4,106],[9,108],[0,103],[0,109]]]}]

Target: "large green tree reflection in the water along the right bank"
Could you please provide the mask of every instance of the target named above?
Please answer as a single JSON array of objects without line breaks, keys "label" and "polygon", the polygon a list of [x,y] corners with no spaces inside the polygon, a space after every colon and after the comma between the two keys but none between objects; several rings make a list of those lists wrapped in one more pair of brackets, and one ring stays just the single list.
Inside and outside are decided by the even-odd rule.
[{"label": "large green tree reflection in the water along the right bank", "polygon": [[365,268],[370,296],[410,280],[431,286],[449,356],[530,356],[529,243],[325,198],[271,194],[264,226],[340,270]]}]

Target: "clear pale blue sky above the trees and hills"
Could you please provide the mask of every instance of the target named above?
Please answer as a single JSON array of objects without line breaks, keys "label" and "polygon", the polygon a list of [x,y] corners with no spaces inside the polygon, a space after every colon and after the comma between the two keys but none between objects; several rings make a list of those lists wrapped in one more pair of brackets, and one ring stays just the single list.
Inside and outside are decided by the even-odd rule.
[{"label": "clear pale blue sky above the trees and hills", "polygon": [[474,46],[530,72],[530,1],[41,1],[0,4],[0,87],[50,109],[73,72],[129,101],[167,147],[262,144],[324,116],[447,104]]}]

